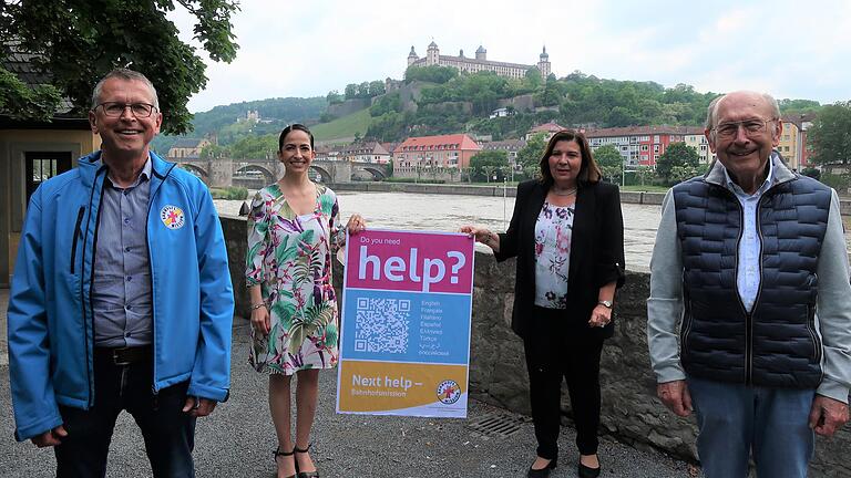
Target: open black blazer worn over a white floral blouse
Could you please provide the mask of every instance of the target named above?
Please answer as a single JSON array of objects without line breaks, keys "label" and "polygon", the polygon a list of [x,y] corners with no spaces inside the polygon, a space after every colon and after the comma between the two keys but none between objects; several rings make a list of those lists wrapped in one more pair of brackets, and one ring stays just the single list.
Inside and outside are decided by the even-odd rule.
[{"label": "open black blazer worn over a white floral blouse", "polygon": [[[514,311],[511,328],[521,337],[530,330],[535,303],[535,221],[547,190],[539,180],[517,185],[509,230],[500,235],[498,261],[516,257]],[[624,219],[617,186],[608,183],[580,185],[573,216],[571,264],[567,276],[565,319],[585,323],[597,304],[599,288],[624,283]],[[580,323],[580,322],[576,322]],[[605,328],[585,326],[588,333],[609,337],[614,321]]]}]

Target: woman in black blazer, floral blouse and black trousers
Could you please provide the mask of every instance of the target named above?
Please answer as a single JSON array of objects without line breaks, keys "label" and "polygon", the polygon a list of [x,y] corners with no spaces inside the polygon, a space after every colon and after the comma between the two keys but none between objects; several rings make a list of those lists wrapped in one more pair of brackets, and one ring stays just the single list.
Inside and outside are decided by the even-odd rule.
[{"label": "woman in black blazer, floral blouse and black trousers", "polygon": [[582,133],[556,133],[541,158],[541,179],[521,183],[505,233],[462,232],[516,257],[511,326],[523,339],[537,457],[527,477],[557,464],[562,377],[567,382],[580,477],[599,475],[599,355],[612,336],[612,301],[624,283],[624,226],[617,186],[603,183]]}]

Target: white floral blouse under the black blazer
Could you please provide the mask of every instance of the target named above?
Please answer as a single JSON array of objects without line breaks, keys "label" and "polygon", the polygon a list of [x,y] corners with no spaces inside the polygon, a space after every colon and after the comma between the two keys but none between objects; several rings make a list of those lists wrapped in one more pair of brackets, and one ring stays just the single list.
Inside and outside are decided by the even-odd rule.
[{"label": "white floral blouse under the black blazer", "polygon": [[567,272],[575,204],[566,207],[544,201],[535,221],[535,305],[567,308]]}]

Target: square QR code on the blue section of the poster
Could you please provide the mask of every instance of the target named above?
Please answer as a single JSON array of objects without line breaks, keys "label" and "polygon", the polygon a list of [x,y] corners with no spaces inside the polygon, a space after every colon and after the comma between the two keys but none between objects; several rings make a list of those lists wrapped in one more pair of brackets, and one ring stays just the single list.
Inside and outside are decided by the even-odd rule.
[{"label": "square QR code on the blue section of the poster", "polygon": [[406,353],[411,301],[358,298],[355,351]]}]

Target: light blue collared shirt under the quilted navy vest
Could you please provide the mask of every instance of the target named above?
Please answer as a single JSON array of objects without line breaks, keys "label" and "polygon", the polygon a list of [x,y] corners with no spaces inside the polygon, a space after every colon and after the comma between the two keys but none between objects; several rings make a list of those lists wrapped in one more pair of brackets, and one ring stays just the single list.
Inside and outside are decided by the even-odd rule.
[{"label": "light blue collared shirt under the quilted navy vest", "polygon": [[768,160],[768,175],[765,183],[752,195],[748,195],[730,178],[727,168],[724,168],[724,176],[727,180],[727,189],[739,199],[744,214],[741,225],[741,238],[739,239],[739,261],[736,269],[736,285],[739,290],[739,298],[745,309],[750,312],[753,309],[753,302],[757,300],[760,282],[759,253],[761,241],[757,232],[757,209],[762,195],[771,187],[771,179],[775,174],[775,153]]}]

